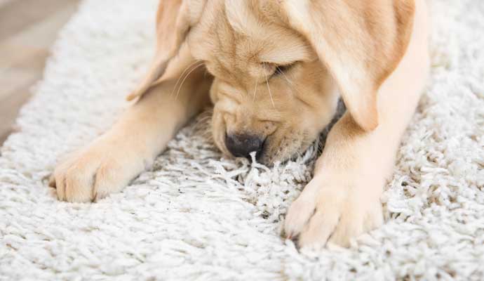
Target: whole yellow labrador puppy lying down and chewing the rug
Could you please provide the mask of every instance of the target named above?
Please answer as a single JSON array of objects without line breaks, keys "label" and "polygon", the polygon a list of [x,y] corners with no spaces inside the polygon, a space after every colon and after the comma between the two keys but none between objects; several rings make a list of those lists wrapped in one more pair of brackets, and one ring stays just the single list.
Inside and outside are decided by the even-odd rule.
[{"label": "whole yellow labrador puppy lying down and chewing the rug", "polygon": [[[222,152],[271,164],[305,150],[342,97],[285,233],[348,245],[382,224],[382,194],[426,80],[424,0],[162,0],[152,67],[112,129],[61,163],[60,200],[121,190],[214,104]],[[207,74],[207,71],[209,74]]]}]

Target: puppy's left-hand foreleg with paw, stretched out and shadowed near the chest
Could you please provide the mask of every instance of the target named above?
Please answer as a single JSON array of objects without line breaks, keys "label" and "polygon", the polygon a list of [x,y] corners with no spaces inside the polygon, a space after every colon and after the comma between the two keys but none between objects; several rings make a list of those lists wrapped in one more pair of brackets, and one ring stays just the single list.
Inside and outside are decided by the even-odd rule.
[{"label": "puppy's left-hand foreleg with paw, stretched out and shadowed near the chest", "polygon": [[211,79],[203,69],[192,72],[179,92],[173,91],[184,68],[145,93],[107,133],[57,166],[51,185],[60,200],[90,202],[121,190],[209,104]]}]

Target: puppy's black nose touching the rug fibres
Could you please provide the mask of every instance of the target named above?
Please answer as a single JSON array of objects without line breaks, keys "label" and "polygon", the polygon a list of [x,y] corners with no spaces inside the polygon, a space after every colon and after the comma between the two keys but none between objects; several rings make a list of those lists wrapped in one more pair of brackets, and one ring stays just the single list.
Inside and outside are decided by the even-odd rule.
[{"label": "puppy's black nose touching the rug fibres", "polygon": [[235,157],[250,158],[250,152],[256,152],[257,158],[262,154],[264,140],[247,134],[231,134],[225,137],[225,146]]}]

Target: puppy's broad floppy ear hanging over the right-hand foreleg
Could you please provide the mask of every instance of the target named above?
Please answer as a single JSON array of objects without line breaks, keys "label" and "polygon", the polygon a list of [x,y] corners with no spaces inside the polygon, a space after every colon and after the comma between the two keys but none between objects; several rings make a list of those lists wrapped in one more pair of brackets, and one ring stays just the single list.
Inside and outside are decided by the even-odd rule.
[{"label": "puppy's broad floppy ear hanging over the right-hand foreleg", "polygon": [[[289,25],[309,40],[365,131],[378,126],[377,91],[406,51],[415,0],[284,0]],[[411,83],[411,81],[409,81]]]}]

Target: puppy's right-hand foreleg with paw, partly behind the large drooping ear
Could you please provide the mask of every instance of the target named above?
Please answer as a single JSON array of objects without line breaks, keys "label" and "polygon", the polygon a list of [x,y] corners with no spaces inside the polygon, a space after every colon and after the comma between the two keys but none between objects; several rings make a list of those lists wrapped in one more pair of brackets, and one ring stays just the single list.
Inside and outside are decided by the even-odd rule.
[{"label": "puppy's right-hand foreleg with paw, partly behind the large drooping ear", "polygon": [[379,197],[429,68],[426,12],[417,2],[408,51],[379,90],[379,126],[365,132],[344,115],[328,136],[313,180],[288,210],[285,233],[299,235],[302,247],[317,249],[328,241],[348,246],[383,222]]}]

